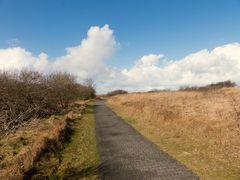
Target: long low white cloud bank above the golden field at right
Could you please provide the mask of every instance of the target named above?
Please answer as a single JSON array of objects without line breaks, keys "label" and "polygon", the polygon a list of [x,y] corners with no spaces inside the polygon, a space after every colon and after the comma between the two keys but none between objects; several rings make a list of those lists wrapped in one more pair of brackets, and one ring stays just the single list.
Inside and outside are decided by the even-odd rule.
[{"label": "long low white cloud bank above the golden field at right", "polygon": [[163,55],[145,55],[128,69],[109,69],[103,91],[125,88],[130,91],[178,88],[232,80],[240,83],[240,44],[232,43],[190,54],[180,60]]}]

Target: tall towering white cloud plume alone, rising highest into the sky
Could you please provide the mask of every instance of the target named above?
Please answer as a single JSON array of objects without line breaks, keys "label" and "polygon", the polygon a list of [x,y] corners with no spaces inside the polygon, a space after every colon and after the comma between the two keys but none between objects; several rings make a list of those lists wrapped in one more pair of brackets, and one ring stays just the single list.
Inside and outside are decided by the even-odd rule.
[{"label": "tall towering white cloud plume alone, rising highest into the sky", "polygon": [[53,67],[56,70],[69,71],[81,78],[95,77],[104,70],[104,62],[112,56],[115,48],[113,31],[108,25],[102,28],[91,27],[81,45],[67,48],[67,54],[57,58]]}]

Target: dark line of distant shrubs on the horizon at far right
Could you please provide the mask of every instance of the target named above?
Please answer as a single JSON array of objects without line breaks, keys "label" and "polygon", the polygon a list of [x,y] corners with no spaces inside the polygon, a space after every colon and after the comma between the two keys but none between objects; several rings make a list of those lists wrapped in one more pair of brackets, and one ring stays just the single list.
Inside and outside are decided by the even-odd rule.
[{"label": "dark line of distant shrubs on the horizon at far right", "polygon": [[185,86],[181,87],[180,91],[206,91],[206,90],[213,90],[213,89],[220,89],[223,87],[234,87],[236,86],[236,83],[228,80],[228,81],[222,81],[217,83],[208,84],[206,86]]}]

